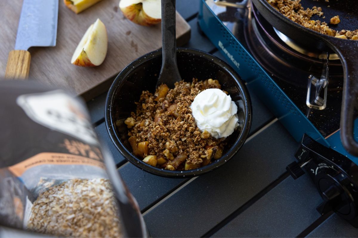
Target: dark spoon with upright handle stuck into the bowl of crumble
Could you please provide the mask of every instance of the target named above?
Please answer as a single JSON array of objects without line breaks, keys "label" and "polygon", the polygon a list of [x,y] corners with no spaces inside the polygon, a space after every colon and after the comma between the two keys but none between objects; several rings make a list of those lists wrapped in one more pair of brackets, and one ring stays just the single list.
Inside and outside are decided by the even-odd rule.
[{"label": "dark spoon with upright handle stuck into the bowl of crumble", "polygon": [[156,87],[165,83],[169,88],[182,80],[176,65],[175,0],[161,0],[162,64]]}]

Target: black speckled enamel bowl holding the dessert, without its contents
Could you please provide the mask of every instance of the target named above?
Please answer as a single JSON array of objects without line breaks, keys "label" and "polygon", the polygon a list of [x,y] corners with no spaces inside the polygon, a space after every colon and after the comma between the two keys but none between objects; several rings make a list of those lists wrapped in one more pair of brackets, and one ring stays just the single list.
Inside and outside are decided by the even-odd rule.
[{"label": "black speckled enamel bowl holding the dessert, without its contents", "polygon": [[212,171],[235,155],[247,138],[252,121],[251,100],[247,88],[232,67],[217,57],[199,50],[178,48],[177,62],[183,80],[191,82],[193,77],[199,80],[219,80],[222,90],[229,92],[238,107],[240,126],[226,138],[227,145],[223,156],[211,164],[187,171],[156,168],[142,162],[141,158],[132,153],[124,121],[135,111],[135,102],[139,101],[142,91],[154,92],[161,60],[161,50],[153,51],[131,62],[118,74],[107,94],[105,120],[108,133],[121,154],[147,172],[164,177],[193,177]]}]

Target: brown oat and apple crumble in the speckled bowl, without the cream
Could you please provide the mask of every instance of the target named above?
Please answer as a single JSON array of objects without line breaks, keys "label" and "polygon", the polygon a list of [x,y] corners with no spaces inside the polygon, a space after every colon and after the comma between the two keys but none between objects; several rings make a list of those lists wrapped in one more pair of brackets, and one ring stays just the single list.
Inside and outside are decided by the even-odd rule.
[{"label": "brown oat and apple crumble in the speckled bowl, without the cream", "polygon": [[174,89],[161,85],[154,95],[143,91],[136,111],[125,121],[133,153],[147,164],[169,170],[195,169],[220,158],[225,138],[200,132],[190,109],[195,96],[208,88],[221,85],[213,79],[193,79],[176,82]]}]

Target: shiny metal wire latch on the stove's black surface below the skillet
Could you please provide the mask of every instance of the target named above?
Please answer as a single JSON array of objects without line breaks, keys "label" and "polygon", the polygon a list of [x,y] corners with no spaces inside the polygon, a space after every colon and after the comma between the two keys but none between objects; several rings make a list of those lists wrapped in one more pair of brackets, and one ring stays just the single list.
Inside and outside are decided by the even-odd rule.
[{"label": "shiny metal wire latch on the stove's black surface below the skillet", "polygon": [[[329,55],[327,53],[327,57],[324,59],[325,65],[323,66],[321,78],[318,79],[313,75],[309,76],[306,98],[306,105],[309,108],[318,110],[323,110],[326,108],[328,89],[328,57]],[[313,93],[311,93],[311,91],[313,91]],[[311,99],[311,94],[314,95],[313,100]]]}]

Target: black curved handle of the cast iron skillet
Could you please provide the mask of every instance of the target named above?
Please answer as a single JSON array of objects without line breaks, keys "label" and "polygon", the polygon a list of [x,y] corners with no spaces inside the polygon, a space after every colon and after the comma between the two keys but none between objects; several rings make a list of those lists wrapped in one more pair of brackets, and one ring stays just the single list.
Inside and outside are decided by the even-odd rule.
[{"label": "black curved handle of the cast iron skillet", "polygon": [[358,41],[335,39],[334,47],[342,61],[344,72],[342,110],[340,114],[340,139],[343,147],[358,156],[358,142],[354,137],[354,111],[358,109]]}]

